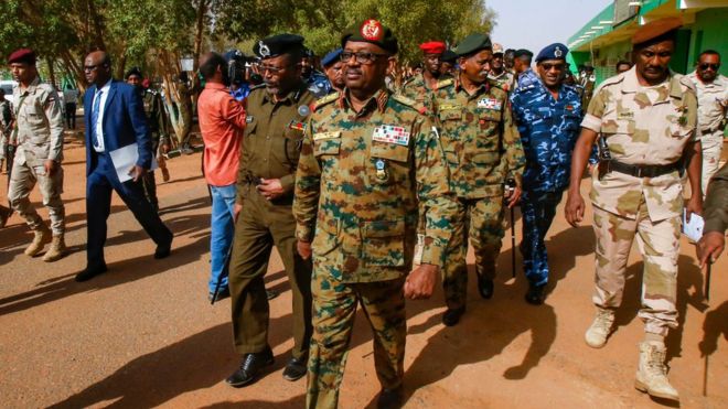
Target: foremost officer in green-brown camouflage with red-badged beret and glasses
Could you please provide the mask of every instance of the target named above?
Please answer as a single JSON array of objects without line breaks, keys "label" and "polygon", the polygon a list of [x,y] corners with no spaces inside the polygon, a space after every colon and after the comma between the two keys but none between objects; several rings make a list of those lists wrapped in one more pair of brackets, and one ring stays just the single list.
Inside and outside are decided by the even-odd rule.
[{"label": "foremost officer in green-brown camouflage with red-badged beret and glasses", "polygon": [[[335,408],[356,306],[374,332],[378,407],[398,407],[405,297],[432,293],[450,240],[453,203],[437,134],[409,98],[385,87],[397,52],[392,31],[367,20],[342,37],[346,88],[319,100],[296,176],[299,252],[313,257],[308,408]],[[413,266],[419,208],[427,226]]]}]

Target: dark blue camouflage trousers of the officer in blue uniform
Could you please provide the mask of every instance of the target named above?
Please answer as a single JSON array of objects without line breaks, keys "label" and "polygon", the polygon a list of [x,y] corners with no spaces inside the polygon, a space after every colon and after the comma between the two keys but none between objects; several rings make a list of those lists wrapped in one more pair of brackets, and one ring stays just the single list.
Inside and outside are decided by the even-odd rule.
[{"label": "dark blue camouflage trousers of the officer in blue uniform", "polygon": [[556,206],[564,192],[523,191],[521,212],[523,213],[523,270],[528,281],[536,286],[548,282],[548,254],[544,238],[552,227]]}]

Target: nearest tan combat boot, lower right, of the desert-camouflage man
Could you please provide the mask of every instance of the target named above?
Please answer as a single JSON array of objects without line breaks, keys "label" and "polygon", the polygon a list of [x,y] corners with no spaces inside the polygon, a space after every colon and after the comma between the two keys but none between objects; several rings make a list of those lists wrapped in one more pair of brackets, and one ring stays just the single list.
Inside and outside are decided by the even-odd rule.
[{"label": "nearest tan combat boot, lower right, of the desert-camouflage man", "polygon": [[667,380],[666,352],[667,348],[663,343],[654,341],[640,343],[640,363],[634,387],[657,398],[679,400],[677,390]]}]

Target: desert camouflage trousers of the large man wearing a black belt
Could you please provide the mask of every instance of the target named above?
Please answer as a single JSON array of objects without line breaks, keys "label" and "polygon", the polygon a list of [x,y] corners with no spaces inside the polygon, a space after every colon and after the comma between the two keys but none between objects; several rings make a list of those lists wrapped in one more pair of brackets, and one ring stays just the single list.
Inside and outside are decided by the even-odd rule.
[{"label": "desert camouflage trousers of the large man wearing a black belt", "polygon": [[675,306],[677,257],[679,255],[681,218],[652,222],[644,196],[636,219],[629,219],[593,207],[596,249],[596,291],[598,306],[614,309],[622,303],[627,261],[636,237],[644,268],[642,273],[642,309],[644,331],[666,335],[677,327]]}]

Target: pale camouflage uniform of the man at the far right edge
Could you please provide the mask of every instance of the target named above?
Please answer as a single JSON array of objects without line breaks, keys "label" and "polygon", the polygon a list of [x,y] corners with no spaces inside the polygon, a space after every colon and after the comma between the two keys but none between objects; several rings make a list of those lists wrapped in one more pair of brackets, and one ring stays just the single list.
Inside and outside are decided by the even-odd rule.
[{"label": "pale camouflage uniform of the man at the far right edge", "polygon": [[695,72],[687,75],[695,84],[698,96],[698,130],[703,146],[703,194],[708,191],[710,177],[718,171],[722,132],[726,127],[728,106],[728,78],[718,75],[710,84],[705,84]]}]

